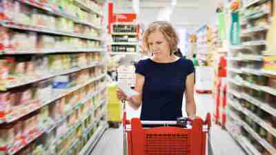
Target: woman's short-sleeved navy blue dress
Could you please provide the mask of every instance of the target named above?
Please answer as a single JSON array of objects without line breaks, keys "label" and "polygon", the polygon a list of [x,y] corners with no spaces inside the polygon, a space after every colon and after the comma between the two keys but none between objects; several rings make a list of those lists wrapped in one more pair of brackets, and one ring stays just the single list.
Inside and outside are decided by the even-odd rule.
[{"label": "woman's short-sleeved navy blue dress", "polygon": [[181,117],[186,77],[194,71],[193,62],[184,58],[173,63],[139,61],[135,72],[145,77],[141,120],[172,121]]}]

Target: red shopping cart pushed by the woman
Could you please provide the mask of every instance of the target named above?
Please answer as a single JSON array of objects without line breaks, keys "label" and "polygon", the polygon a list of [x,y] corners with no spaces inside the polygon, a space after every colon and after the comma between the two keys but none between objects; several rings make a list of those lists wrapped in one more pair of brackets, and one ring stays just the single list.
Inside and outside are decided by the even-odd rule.
[{"label": "red shopping cart pushed by the woman", "polygon": [[123,104],[124,155],[206,155],[206,152],[213,155],[210,114],[206,121],[199,117],[179,121],[140,121],[139,118],[128,121],[124,101]]}]

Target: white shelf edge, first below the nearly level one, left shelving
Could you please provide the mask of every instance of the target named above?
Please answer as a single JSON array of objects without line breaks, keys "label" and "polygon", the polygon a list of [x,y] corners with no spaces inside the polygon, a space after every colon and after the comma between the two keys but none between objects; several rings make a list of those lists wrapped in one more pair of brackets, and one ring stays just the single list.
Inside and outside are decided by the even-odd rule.
[{"label": "white shelf edge, first below the nearly level one, left shelving", "polygon": [[10,89],[10,88],[13,88],[13,87],[19,87],[19,86],[22,86],[22,85],[27,85],[27,84],[30,84],[30,83],[42,81],[44,79],[49,79],[49,78],[52,78],[52,77],[55,77],[55,76],[59,76],[59,75],[63,75],[63,74],[70,74],[72,72],[78,72],[79,70],[84,70],[84,69],[92,68],[92,67],[99,66],[99,65],[103,65],[103,64],[102,63],[94,63],[92,65],[66,70],[65,72],[58,72],[58,73],[54,73],[54,74],[48,74],[47,76],[43,76],[43,77],[40,77],[40,78],[35,78],[35,79],[32,79],[32,80],[29,80],[30,77],[28,77],[28,78],[26,77],[26,78],[22,78],[22,79],[28,79],[27,81],[20,81],[18,83],[6,84],[5,87],[6,87],[6,89]]}]

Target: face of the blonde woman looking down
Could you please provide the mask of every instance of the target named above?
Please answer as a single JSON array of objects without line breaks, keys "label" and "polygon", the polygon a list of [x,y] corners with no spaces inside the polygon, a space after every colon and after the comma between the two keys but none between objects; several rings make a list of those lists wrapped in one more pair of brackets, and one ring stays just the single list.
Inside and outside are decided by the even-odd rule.
[{"label": "face of the blonde woman looking down", "polygon": [[157,57],[170,55],[170,44],[159,30],[148,35],[148,46]]}]

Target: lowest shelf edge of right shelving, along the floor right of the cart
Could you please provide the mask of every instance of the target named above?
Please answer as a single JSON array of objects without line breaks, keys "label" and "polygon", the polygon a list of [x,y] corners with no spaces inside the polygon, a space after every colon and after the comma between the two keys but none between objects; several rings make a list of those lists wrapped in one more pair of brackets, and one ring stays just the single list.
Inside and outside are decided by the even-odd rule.
[{"label": "lowest shelf edge of right shelving, along the floor right of the cart", "polygon": [[[226,130],[228,130],[227,127]],[[239,143],[239,145],[242,146],[242,148],[244,148],[244,150],[249,155],[262,155],[244,136],[230,132],[230,130],[228,130],[228,133],[230,133],[230,135],[237,141],[237,143]]]}]

